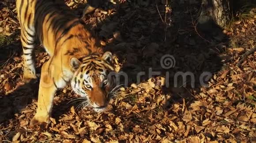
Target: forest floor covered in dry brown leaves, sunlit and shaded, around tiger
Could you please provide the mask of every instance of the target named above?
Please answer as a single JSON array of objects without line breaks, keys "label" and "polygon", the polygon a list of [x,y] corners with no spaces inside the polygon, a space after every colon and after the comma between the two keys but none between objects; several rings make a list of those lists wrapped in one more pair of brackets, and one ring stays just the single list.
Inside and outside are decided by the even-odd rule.
[{"label": "forest floor covered in dry brown leaves, sunlit and shaded, around tiger", "polygon": [[[54,97],[49,129],[37,130],[29,123],[38,82],[21,81],[20,29],[10,1],[0,2],[0,142],[256,142],[256,52],[237,66],[256,45],[255,9],[227,29],[203,34],[195,28],[200,0],[101,4],[83,20],[116,55],[116,70],[128,75],[128,85],[103,113],[68,104],[75,98],[68,86]],[[82,15],[85,5],[79,1],[67,4]],[[35,53],[40,76],[49,56],[40,45]],[[169,67],[162,61],[166,56]],[[136,79],[150,70],[161,75]]]}]

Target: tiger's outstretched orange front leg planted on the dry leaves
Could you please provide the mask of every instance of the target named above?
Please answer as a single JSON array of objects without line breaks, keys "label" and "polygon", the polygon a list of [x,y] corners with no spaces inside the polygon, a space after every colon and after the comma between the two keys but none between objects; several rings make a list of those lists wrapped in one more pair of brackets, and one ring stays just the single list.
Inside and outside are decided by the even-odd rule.
[{"label": "tiger's outstretched orange front leg planted on the dry leaves", "polygon": [[30,122],[30,126],[42,125],[45,123],[47,125],[50,123],[50,116],[53,108],[53,97],[56,93],[57,87],[54,81],[54,76],[56,74],[53,73],[56,71],[53,69],[54,67],[49,67],[49,61],[43,64],[41,69],[38,108],[34,118]]}]

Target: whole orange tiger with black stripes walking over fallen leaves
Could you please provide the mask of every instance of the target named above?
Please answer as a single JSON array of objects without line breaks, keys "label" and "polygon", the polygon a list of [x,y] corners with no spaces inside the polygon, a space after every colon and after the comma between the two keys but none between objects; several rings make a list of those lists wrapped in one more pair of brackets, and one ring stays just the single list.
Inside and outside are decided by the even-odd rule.
[{"label": "whole orange tiger with black stripes walking over fallen leaves", "polygon": [[96,112],[105,111],[114,87],[113,54],[61,0],[16,0],[25,83],[37,79],[34,48],[39,40],[49,60],[41,67],[38,102],[30,126],[50,123],[58,89],[72,90]]}]

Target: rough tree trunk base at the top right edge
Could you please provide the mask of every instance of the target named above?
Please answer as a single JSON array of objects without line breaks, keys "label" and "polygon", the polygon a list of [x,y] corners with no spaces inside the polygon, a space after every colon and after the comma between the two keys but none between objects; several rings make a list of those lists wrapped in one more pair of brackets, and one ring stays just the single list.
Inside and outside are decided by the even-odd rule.
[{"label": "rough tree trunk base at the top right edge", "polygon": [[198,19],[202,30],[208,29],[209,25],[224,28],[229,21],[230,0],[202,0],[202,11]]}]

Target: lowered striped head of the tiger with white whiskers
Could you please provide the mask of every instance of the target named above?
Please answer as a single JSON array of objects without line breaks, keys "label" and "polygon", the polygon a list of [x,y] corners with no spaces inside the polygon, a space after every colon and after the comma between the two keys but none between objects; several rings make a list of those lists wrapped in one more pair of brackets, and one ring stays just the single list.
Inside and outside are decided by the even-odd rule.
[{"label": "lowered striped head of the tiger with white whiskers", "polygon": [[71,86],[80,96],[81,106],[93,107],[96,112],[104,111],[114,85],[113,76],[109,76],[110,72],[114,73],[112,54],[90,54],[81,59],[72,57],[70,64],[75,68]]}]

